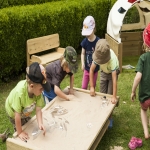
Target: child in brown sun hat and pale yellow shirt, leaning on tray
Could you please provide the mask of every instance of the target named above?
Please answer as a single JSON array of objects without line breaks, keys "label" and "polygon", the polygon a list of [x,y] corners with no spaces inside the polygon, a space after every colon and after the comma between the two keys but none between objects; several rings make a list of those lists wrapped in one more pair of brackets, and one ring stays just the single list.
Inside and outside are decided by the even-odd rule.
[{"label": "child in brown sun hat and pale yellow shirt, leaning on tray", "polygon": [[[111,102],[115,104],[117,100],[117,79],[120,73],[119,61],[114,51],[110,49],[106,39],[101,39],[96,43],[93,53],[93,62],[90,68],[91,96],[95,96],[93,74],[97,65],[100,65],[100,92],[111,94]],[[110,128],[112,127],[112,122],[113,120],[110,117]]]}]

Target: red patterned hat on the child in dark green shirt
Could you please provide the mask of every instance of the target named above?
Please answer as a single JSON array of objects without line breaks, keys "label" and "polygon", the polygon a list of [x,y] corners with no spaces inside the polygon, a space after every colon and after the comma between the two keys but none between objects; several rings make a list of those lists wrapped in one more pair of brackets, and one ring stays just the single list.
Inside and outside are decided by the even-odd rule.
[{"label": "red patterned hat on the child in dark green shirt", "polygon": [[150,23],[143,31],[143,41],[144,44],[150,48]]}]

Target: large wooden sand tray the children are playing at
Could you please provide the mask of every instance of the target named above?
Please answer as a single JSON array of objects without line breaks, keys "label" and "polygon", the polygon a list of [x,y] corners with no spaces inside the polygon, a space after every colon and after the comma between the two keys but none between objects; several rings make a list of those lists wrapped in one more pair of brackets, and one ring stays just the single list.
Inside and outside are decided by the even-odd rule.
[{"label": "large wooden sand tray the children are playing at", "polygon": [[[67,92],[68,88],[64,91]],[[96,96],[91,97],[88,90],[74,88],[74,91],[73,100],[64,101],[56,97],[42,109],[45,136],[38,130],[34,116],[23,126],[29,140],[21,141],[14,133],[13,138],[7,139],[7,150],[96,149],[116,104],[110,101],[112,95],[96,92]]]}]

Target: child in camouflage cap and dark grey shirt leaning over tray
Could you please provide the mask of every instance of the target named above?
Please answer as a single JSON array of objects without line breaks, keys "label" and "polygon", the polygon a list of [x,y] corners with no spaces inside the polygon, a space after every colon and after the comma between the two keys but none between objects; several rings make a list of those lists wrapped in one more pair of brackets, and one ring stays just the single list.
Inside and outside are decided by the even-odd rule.
[{"label": "child in camouflage cap and dark grey shirt leaning over tray", "polygon": [[[46,92],[44,90],[44,96],[51,101],[56,96],[59,96],[65,100],[71,100],[73,96],[73,84],[74,84],[74,75],[78,69],[77,64],[77,53],[76,50],[71,47],[67,46],[65,48],[64,55],[59,59],[56,60],[46,66],[46,76],[47,81],[51,84],[50,92]],[[70,89],[69,95],[65,94],[60,89],[60,84],[63,81],[66,75],[70,76]]]}]

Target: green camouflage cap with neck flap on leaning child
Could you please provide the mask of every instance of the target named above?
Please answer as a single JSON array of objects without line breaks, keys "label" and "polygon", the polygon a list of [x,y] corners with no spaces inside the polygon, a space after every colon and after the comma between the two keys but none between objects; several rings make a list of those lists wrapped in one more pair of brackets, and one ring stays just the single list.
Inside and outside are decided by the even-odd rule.
[{"label": "green camouflage cap with neck flap on leaning child", "polygon": [[64,58],[68,62],[70,71],[76,73],[78,70],[77,52],[72,46],[65,48]]}]

